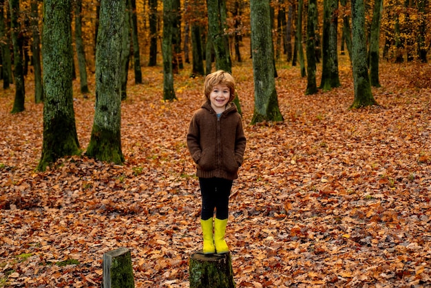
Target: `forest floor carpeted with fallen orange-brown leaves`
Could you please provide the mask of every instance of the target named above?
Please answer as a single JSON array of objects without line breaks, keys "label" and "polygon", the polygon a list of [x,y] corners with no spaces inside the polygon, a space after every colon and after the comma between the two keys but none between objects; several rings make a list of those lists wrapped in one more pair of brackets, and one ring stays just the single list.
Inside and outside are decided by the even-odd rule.
[{"label": "forest floor carpeted with fallen orange-brown leaves", "polygon": [[[251,64],[233,69],[248,140],[227,228],[237,286],[431,285],[431,91],[412,85],[426,76],[382,63],[380,106],[348,110],[348,65],[341,88],[313,96],[298,68],[277,68],[285,121],[255,126]],[[28,96],[12,115],[14,92],[2,92],[0,287],[100,287],[117,247],[132,251],[136,287],[188,287],[202,238],[185,135],[203,78],[177,75],[179,100],[164,103],[161,68],[143,75],[122,106],[122,166],[83,156],[36,172],[43,105]],[[94,95],[74,97],[85,151]]]}]

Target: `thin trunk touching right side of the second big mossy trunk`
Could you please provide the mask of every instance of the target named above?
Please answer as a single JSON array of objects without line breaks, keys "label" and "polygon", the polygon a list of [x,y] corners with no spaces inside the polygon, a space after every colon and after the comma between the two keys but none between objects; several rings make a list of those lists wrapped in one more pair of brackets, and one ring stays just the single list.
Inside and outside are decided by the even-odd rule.
[{"label": "thin trunk touching right side of the second big mossy trunk", "polygon": [[131,13],[125,14],[123,25],[123,39],[121,41],[121,100],[127,99],[127,78],[129,75],[129,61],[130,61],[130,16]]}]

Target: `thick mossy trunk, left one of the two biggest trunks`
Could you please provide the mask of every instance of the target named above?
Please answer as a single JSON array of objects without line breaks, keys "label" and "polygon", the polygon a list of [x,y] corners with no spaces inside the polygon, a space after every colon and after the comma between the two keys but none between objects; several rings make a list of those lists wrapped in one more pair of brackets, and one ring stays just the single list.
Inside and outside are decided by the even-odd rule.
[{"label": "thick mossy trunk, left one of the two biggest trunks", "polygon": [[72,92],[71,0],[43,2],[43,145],[37,169],[79,154]]}]

